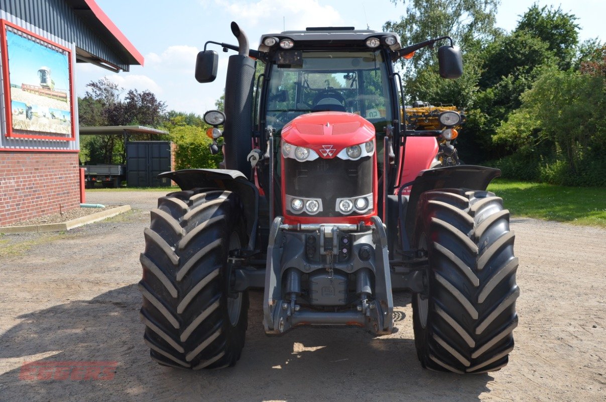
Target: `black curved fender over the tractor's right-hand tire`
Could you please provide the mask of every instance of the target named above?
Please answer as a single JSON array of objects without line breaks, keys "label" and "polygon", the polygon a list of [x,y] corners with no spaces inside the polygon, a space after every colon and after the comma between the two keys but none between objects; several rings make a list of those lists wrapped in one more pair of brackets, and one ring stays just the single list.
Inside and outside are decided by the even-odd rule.
[{"label": "black curved fender over the tractor's right-hand tire", "polygon": [[399,216],[401,238],[404,243],[402,249],[410,250],[410,240],[415,233],[419,197],[422,193],[436,189],[486,190],[488,184],[498,176],[501,176],[501,170],[493,167],[458,165],[421,170],[414,181],[402,184],[398,190],[399,204],[402,204],[404,187],[412,186],[406,212]]}]

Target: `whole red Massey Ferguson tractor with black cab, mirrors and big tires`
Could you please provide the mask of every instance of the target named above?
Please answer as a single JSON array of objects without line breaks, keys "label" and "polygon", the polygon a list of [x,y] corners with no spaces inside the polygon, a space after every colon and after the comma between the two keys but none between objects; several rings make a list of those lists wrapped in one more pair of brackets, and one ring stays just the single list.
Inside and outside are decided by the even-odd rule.
[{"label": "whole red Massey Ferguson tractor with black cab, mirrors and big tires", "polygon": [[[513,349],[519,294],[514,235],[499,170],[430,169],[444,130],[410,130],[393,62],[450,38],[402,47],[394,33],[350,27],[263,35],[230,56],[224,169],[162,173],[181,191],[158,200],[141,255],[141,317],[151,358],[187,369],[233,366],[247,329],[248,289],[264,289],[268,334],[297,326],[393,331],[393,290],[412,293],[423,367],[498,370]],[[196,79],[216,78],[200,52]],[[461,54],[438,49],[458,78]],[[265,64],[255,79],[256,63]],[[456,112],[452,112],[456,113]],[[441,116],[449,127],[458,116]],[[453,123],[453,124],[451,124]],[[223,131],[218,126],[224,126]],[[218,152],[217,144],[211,149]]]}]

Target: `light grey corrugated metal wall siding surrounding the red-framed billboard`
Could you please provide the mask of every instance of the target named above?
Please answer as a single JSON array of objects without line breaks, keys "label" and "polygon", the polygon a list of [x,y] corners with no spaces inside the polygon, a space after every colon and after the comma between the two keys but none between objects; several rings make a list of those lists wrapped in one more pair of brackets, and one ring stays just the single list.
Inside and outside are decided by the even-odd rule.
[{"label": "light grey corrugated metal wall siding surrounding the red-framed billboard", "polygon": [[[21,0],[21,4],[24,5],[25,1]],[[37,1],[37,0],[33,0]],[[0,5],[3,2],[0,1]],[[28,24],[25,21],[22,21],[19,18],[16,18],[13,15],[8,14],[3,10],[0,10],[0,18],[5,19],[9,22],[12,22],[15,25],[19,25],[19,27],[25,28],[28,31],[35,33],[36,35],[42,36],[45,39],[56,42],[59,45],[67,47],[72,51],[72,81],[75,78],[75,73],[73,68],[76,65],[76,47],[73,43],[65,41],[64,39],[58,38],[58,36],[51,35],[47,32],[44,32],[41,28],[35,27],[32,24]],[[37,139],[37,138],[7,138],[4,134],[7,132],[6,129],[6,105],[4,104],[4,76],[1,71],[2,67],[2,55],[0,53],[0,148],[6,149],[27,149],[27,150],[53,150],[53,151],[76,151],[80,148],[80,139],[78,136],[78,96],[76,96],[75,83],[72,82],[72,92],[73,93],[73,113],[75,116],[75,133],[76,133],[76,141],[61,141],[61,140],[50,140],[50,139]]]}]

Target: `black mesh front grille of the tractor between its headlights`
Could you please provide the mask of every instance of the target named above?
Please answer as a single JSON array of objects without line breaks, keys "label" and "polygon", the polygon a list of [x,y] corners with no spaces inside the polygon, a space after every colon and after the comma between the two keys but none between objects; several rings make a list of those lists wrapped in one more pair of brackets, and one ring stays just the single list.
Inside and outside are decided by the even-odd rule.
[{"label": "black mesh front grille of the tractor between its headlights", "polygon": [[323,211],[316,215],[344,216],[336,212],[337,198],[355,197],[373,192],[373,158],[366,156],[357,161],[340,158],[299,162],[285,158],[285,193],[295,197],[321,198]]}]

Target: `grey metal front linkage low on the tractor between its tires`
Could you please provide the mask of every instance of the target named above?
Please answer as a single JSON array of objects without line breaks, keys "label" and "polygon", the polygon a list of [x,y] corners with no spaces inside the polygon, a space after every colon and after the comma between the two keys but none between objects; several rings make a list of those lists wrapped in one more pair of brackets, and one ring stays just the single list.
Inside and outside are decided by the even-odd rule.
[{"label": "grey metal front linkage low on the tractor between its tires", "polygon": [[[381,219],[373,217],[370,226],[282,221],[281,216],[274,219],[267,247],[265,332],[283,333],[298,325],[350,325],[390,334],[393,297]],[[281,278],[287,278],[284,287]],[[348,298],[348,289],[354,287],[357,300]]]}]

